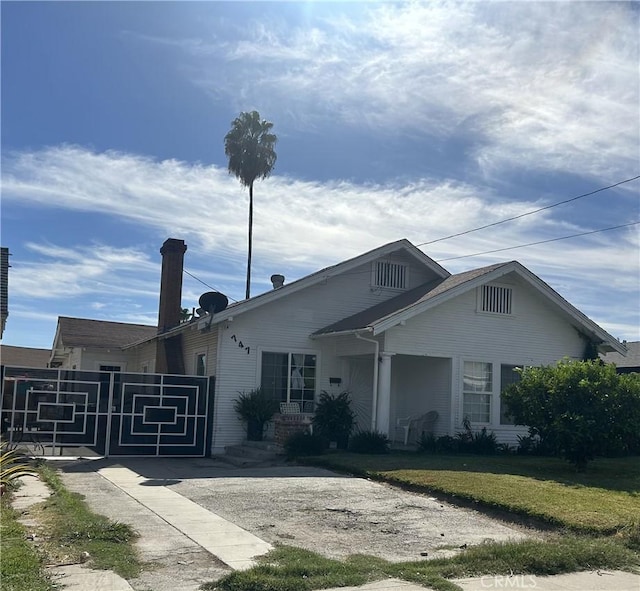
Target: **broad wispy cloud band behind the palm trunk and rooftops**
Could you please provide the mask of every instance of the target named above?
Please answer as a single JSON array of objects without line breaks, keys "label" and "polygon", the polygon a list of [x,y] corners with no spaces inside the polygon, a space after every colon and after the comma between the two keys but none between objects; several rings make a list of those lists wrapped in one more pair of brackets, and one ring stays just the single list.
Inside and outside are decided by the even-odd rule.
[{"label": "broad wispy cloud band behind the palm trunk and rooftops", "polygon": [[[2,182],[4,208],[19,204],[102,212],[161,236],[183,238],[189,245],[186,268],[231,297],[241,297],[246,244],[238,237],[246,235],[247,197],[225,170],[61,146],[5,155]],[[295,279],[391,240],[406,237],[419,243],[540,205],[505,200],[488,189],[447,179],[363,186],[273,176],[256,187],[256,292],[270,287],[268,277],[276,271]],[[558,215],[548,210],[490,232],[437,242],[425,252],[439,260],[592,229],[572,221],[566,210]],[[32,241],[28,248],[39,258],[12,269],[12,293],[59,298],[67,306],[89,296],[92,307],[86,315],[97,309],[103,317],[154,322],[159,260],[139,248],[107,246],[107,238],[73,248]],[[617,336],[637,338],[639,251],[635,227],[445,266],[458,272],[520,260],[605,328],[611,321],[627,327]],[[611,290],[616,309],[602,305],[611,299]],[[185,301],[195,305],[203,291],[202,284],[185,278]],[[143,309],[136,307],[140,302]]]}]

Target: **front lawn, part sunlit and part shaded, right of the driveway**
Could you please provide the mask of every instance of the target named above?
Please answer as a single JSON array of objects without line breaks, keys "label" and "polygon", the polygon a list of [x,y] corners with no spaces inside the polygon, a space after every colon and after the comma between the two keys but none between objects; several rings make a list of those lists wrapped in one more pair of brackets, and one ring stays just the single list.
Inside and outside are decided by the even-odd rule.
[{"label": "front lawn, part sunlit and part shaded, right of the driveway", "polygon": [[576,531],[640,527],[640,457],[598,459],[586,472],[534,456],[336,453],[311,462]]}]

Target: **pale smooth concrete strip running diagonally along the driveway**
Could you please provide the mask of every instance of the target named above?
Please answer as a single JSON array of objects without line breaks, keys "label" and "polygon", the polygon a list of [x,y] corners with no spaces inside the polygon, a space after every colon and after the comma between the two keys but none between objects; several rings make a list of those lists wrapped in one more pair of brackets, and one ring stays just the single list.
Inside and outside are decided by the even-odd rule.
[{"label": "pale smooth concrete strip running diagonally along the driveway", "polygon": [[145,485],[147,479],[128,468],[109,466],[98,473],[234,570],[251,568],[256,556],[273,549],[271,544],[166,486]]}]

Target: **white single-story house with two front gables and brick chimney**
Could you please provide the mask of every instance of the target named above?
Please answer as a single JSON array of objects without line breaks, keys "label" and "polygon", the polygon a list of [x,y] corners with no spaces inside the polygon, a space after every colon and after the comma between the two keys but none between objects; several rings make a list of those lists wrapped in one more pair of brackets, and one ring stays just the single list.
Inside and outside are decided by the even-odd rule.
[{"label": "white single-story house with two front gables and brick chimney", "polygon": [[[216,305],[180,323],[185,251],[175,239],[161,249],[158,329],[61,318],[52,362],[215,376],[213,453],[244,439],[233,403],[258,385],[301,408],[322,391],[347,390],[358,427],[394,440],[403,439],[398,419],[437,411],[437,435],[468,418],[516,443],[526,430],[511,424],[500,399],[515,368],[581,359],[594,344],[626,354],[517,261],[452,275],[407,240],[288,284],[276,277],[273,290],[227,307],[207,294],[201,302]],[[95,324],[71,339],[74,320]]]}]

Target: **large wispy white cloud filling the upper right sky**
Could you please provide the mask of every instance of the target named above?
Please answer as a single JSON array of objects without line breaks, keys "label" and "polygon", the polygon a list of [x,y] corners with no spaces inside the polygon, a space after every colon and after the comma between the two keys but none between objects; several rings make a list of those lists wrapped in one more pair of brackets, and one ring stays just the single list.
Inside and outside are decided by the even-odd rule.
[{"label": "large wispy white cloud filling the upper right sky", "polygon": [[184,50],[192,80],[237,109],[262,105],[307,132],[331,120],[380,135],[461,138],[487,175],[637,170],[639,17],[630,4],[339,10],[305,26],[248,21],[233,42],[215,28],[211,39],[154,41]]}]

